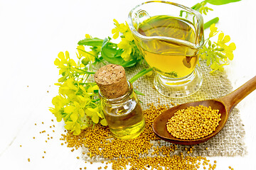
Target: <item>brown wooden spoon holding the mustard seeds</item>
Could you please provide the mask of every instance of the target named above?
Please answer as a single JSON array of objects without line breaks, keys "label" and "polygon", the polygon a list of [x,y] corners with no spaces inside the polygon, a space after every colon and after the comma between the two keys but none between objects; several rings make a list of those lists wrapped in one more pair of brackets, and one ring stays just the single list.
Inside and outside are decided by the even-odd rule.
[{"label": "brown wooden spoon holding the mustard seeds", "polygon": [[[245,84],[240,86],[238,89],[233,91],[232,93],[223,96],[221,98],[217,99],[211,99],[211,100],[206,100],[206,101],[196,101],[196,102],[191,102],[191,103],[184,103],[178,106],[174,106],[173,108],[169,108],[168,110],[164,111],[159,115],[153,123],[153,131],[154,133],[160,137],[162,140],[165,140],[167,142],[175,143],[175,144],[180,144],[180,145],[196,145],[201,142],[206,142],[209,140],[211,137],[215,136],[220,132],[220,130],[223,129],[225,123],[228,120],[228,115],[230,111],[240,102],[242,101],[245,96],[250,94],[252,91],[256,89],[256,76],[247,81]],[[166,123],[168,120],[174,116],[174,113],[176,111],[181,110],[181,109],[186,109],[189,106],[210,106],[213,109],[218,109],[221,113],[221,120],[216,128],[216,130],[203,138],[197,139],[197,140],[181,140],[178,139],[174,136],[172,136],[166,128]]]}]

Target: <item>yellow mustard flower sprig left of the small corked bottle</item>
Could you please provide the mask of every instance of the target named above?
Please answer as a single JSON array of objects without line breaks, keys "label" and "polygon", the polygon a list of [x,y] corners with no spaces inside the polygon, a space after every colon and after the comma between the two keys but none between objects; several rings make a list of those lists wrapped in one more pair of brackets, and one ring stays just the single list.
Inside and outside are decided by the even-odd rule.
[{"label": "yellow mustard flower sprig left of the small corked bottle", "polygon": [[[100,42],[100,39],[87,40],[90,43]],[[87,81],[90,75],[95,74],[90,71],[90,65],[96,61],[100,53],[99,48],[92,47],[90,51],[85,51],[84,46],[78,45],[77,49],[78,62],[70,59],[67,51],[65,54],[59,52],[58,58],[55,59],[54,64],[58,67],[61,77],[55,84],[59,86],[58,96],[52,99],[53,107],[49,109],[57,121],[63,120],[64,128],[74,135],[79,135],[81,130],[90,125],[97,123],[107,125],[100,105],[98,86],[94,82]],[[100,57],[98,59],[100,60]],[[139,72],[139,76],[135,75],[132,82],[150,71],[151,69],[147,69],[146,72]],[[135,89],[134,92],[144,95]]]}]

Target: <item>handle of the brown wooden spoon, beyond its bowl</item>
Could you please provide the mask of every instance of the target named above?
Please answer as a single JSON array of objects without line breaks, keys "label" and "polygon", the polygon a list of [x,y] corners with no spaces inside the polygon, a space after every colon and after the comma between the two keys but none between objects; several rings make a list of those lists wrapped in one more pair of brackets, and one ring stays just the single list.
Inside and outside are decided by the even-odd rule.
[{"label": "handle of the brown wooden spoon, beyond its bowl", "polygon": [[223,96],[220,101],[223,101],[228,111],[233,109],[243,98],[248,94],[252,93],[256,89],[256,76],[247,81],[245,84],[240,86],[238,89],[232,93]]}]

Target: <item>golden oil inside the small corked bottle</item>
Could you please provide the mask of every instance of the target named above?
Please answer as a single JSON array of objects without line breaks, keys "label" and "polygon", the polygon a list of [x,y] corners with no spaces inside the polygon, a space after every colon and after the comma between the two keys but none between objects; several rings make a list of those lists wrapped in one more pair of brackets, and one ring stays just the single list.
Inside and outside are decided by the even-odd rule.
[{"label": "golden oil inside the small corked bottle", "polygon": [[139,103],[129,103],[129,107],[105,109],[105,118],[112,135],[122,140],[139,136],[145,128],[144,115]]}]

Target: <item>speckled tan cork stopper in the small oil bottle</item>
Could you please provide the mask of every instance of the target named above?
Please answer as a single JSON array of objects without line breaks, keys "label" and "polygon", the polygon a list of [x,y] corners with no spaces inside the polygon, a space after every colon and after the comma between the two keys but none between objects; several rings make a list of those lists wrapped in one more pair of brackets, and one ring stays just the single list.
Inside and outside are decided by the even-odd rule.
[{"label": "speckled tan cork stopper in the small oil bottle", "polygon": [[124,67],[117,64],[101,67],[95,73],[94,78],[105,98],[118,98],[129,90]]}]

